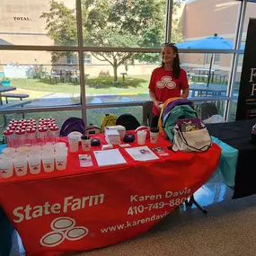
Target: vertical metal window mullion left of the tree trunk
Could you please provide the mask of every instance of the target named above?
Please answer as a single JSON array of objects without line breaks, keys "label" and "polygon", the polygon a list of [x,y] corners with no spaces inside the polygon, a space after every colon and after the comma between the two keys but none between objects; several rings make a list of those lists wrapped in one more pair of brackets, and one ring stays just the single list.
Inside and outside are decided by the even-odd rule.
[{"label": "vertical metal window mullion left of the tree trunk", "polygon": [[84,76],[84,40],[83,40],[83,17],[82,17],[81,0],[76,0],[76,22],[77,22],[77,38],[78,38],[78,57],[80,70],[80,96],[82,103],[82,119],[86,120],[86,96],[85,96],[85,76]]}]

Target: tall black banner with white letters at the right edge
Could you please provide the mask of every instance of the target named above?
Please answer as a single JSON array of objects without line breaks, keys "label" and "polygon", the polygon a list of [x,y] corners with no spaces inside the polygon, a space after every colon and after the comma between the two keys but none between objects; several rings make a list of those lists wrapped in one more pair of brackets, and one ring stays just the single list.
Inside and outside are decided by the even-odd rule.
[{"label": "tall black banner with white letters at the right edge", "polygon": [[256,19],[250,19],[243,56],[243,68],[236,120],[256,119]]}]

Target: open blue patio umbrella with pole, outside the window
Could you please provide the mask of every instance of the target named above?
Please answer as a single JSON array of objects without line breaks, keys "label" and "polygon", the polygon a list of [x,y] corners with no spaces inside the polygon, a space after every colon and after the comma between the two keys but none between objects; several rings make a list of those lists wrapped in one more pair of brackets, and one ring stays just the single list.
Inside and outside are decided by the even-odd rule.
[{"label": "open blue patio umbrella with pole, outside the window", "polygon": [[[225,40],[222,37],[218,37],[217,34],[215,34],[213,37],[207,37],[202,40],[193,40],[177,43],[176,46],[179,49],[233,49],[234,43],[233,41]],[[241,45],[240,49],[244,49],[244,45]],[[213,65],[213,56],[214,55],[212,55],[210,61],[207,86],[210,81],[211,69]]]}]

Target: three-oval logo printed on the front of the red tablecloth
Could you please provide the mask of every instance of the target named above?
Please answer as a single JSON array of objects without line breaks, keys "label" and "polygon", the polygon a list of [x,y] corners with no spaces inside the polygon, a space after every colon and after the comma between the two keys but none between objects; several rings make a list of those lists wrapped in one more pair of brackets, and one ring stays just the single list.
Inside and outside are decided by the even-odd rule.
[{"label": "three-oval logo printed on the front of the red tablecloth", "polygon": [[40,239],[42,246],[54,247],[63,243],[65,239],[75,241],[89,233],[88,228],[75,226],[75,219],[67,216],[57,217],[51,222],[50,227],[52,231]]}]

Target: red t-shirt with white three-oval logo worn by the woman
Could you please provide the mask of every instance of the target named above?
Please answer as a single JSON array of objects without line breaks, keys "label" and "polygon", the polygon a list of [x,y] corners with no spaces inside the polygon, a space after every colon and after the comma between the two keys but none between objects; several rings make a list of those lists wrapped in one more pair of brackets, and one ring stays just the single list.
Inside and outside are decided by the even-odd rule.
[{"label": "red t-shirt with white three-oval logo worn by the woman", "polygon": [[[178,79],[172,75],[172,70],[165,70],[164,67],[154,69],[148,89],[155,93],[155,98],[158,102],[165,102],[169,98],[180,97],[181,90],[189,88],[186,71],[181,68],[181,74]],[[153,107],[154,116],[159,117],[160,111]]]}]

